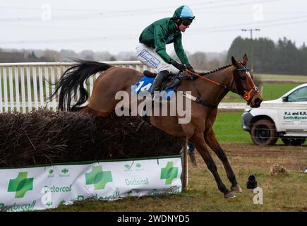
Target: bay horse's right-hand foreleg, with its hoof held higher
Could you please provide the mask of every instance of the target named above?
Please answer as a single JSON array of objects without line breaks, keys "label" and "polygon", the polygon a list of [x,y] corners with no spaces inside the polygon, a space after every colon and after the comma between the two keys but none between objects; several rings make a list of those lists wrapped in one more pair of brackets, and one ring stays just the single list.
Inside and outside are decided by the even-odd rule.
[{"label": "bay horse's right-hand foreleg, with its hoof held higher", "polygon": [[242,192],[238,182],[236,182],[236,176],[234,175],[234,171],[231,169],[226,153],[219,145],[212,128],[204,133],[204,138],[207,145],[215,152],[215,154],[217,154],[219,160],[222,161],[229,182],[231,182],[231,191]]}]

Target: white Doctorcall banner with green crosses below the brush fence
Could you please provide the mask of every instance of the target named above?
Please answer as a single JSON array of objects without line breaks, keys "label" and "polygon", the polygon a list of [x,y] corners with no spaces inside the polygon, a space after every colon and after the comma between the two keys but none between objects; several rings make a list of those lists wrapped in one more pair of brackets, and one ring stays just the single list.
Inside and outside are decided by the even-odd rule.
[{"label": "white Doctorcall banner with green crosses below the brush fence", "polygon": [[42,210],[85,198],[181,192],[181,156],[0,169],[0,209]]}]

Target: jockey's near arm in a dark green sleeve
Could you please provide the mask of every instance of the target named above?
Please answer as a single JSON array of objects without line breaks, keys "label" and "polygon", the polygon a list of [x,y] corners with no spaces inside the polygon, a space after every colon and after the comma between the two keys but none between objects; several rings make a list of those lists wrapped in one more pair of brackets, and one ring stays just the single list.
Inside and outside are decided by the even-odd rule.
[{"label": "jockey's near arm in a dark green sleeve", "polygon": [[165,62],[167,62],[167,64],[171,64],[174,61],[174,59],[171,59],[171,57],[169,57],[169,54],[167,54],[167,50],[165,47],[166,32],[164,31],[162,26],[157,25],[155,27],[154,35],[155,35],[155,51],[157,52],[157,54],[159,54],[160,57],[162,57],[162,59],[164,59]]}]

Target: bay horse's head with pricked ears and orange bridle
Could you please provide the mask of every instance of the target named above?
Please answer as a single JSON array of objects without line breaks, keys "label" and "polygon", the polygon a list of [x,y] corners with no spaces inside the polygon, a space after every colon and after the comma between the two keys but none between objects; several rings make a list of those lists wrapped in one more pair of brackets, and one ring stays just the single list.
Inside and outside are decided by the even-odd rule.
[{"label": "bay horse's head with pricked ears and orange bridle", "polygon": [[236,93],[246,100],[247,104],[251,107],[260,107],[263,97],[259,93],[259,89],[255,86],[253,76],[246,68],[248,58],[246,54],[242,62],[236,61],[231,57],[232,64],[236,67],[234,70],[234,82],[236,83]]}]

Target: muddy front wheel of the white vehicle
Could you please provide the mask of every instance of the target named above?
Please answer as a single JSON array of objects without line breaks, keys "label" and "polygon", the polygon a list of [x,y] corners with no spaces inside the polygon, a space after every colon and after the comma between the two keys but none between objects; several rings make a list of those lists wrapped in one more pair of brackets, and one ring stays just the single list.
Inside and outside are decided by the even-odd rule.
[{"label": "muddy front wheel of the white vehicle", "polygon": [[256,121],[251,128],[251,139],[257,145],[275,145],[278,137],[274,122],[270,119]]}]

